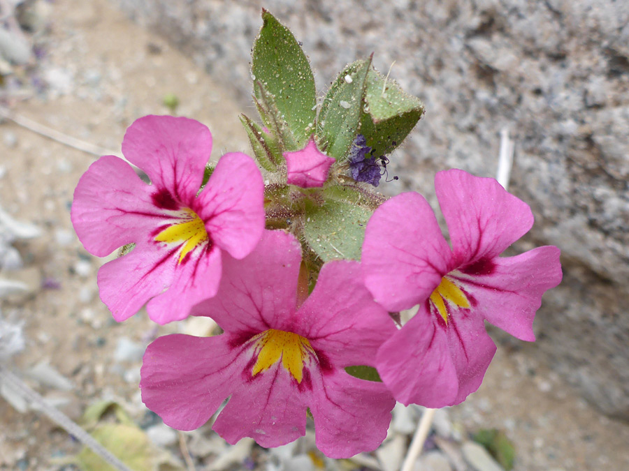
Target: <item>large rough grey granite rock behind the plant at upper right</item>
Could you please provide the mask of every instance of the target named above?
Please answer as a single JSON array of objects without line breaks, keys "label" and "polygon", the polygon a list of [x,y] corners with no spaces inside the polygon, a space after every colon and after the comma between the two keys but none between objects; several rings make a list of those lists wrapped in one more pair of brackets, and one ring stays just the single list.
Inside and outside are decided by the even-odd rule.
[{"label": "large rough grey granite rock behind the plant at upper right", "polygon": [[[250,106],[257,3],[115,1]],[[424,100],[426,117],[391,156],[403,188],[390,184],[389,193],[410,188],[434,203],[438,170],[495,175],[498,132],[510,128],[510,189],[536,217],[516,250],[555,244],[565,274],[544,298],[530,354],[629,420],[629,3],[269,0],[266,8],[303,41],[319,92],[345,63],[375,51],[375,66],[386,73],[396,61],[391,78]]]}]

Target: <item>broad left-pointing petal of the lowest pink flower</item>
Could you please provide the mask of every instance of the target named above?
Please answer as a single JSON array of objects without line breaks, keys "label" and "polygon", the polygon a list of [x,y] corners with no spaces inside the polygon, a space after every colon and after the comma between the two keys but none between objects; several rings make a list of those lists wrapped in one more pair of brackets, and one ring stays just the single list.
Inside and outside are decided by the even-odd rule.
[{"label": "broad left-pointing petal of the lowest pink flower", "polygon": [[[243,357],[243,355],[240,355]],[[243,368],[226,336],[174,334],[157,338],[140,370],[142,402],[164,423],[179,430],[205,424],[236,389]]]}]

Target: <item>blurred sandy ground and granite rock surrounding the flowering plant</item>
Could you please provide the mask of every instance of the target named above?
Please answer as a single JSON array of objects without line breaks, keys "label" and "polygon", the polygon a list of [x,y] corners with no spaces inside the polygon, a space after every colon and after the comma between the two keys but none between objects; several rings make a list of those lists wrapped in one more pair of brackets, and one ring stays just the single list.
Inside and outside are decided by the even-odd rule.
[{"label": "blurred sandy ground and granite rock surrounding the flowering plant", "polygon": [[[563,283],[544,297],[538,341],[490,331],[499,348],[484,384],[439,411],[417,469],[509,468],[502,455],[511,449],[515,470],[629,469],[621,1],[0,0],[3,349],[13,339],[1,361],[87,428],[126,417],[150,456],[150,468],[138,469],[399,469],[420,408],[396,408],[387,440],[357,461],[324,459],[310,433],[266,451],[246,440],[228,447],[209,425],[182,434],[161,424],[140,401],[145,346],[212,324],[156,328],[145,313],[116,324],[96,287],[107,260],[87,254],[72,230],[80,175],[97,156],[120,155],[138,117],[174,110],[198,119],[212,130],[214,159],[249,151],[238,114],[255,115],[249,61],[262,6],[303,43],[320,95],[345,63],[375,52],[375,66],[424,101],[426,116],[390,156],[400,180],[379,189],[418,190],[435,204],[438,170],[493,177],[506,127],[515,143],[509,190],[536,218],[513,253],[562,250]],[[0,396],[0,470],[103,469],[74,458],[80,444],[6,384]],[[101,409],[86,419],[94,404]],[[482,461],[485,450],[493,461]]]}]

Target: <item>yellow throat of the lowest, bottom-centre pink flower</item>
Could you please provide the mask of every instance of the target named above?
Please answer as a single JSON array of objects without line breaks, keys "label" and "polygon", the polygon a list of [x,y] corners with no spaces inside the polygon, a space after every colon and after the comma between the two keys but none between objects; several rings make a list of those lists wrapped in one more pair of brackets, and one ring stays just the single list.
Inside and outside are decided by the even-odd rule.
[{"label": "yellow throat of the lowest, bottom-centre pink flower", "polygon": [[301,383],[304,362],[309,354],[315,354],[307,338],[292,332],[268,329],[256,335],[254,339],[258,359],[254,364],[252,376],[268,370],[281,359],[284,369]]}]

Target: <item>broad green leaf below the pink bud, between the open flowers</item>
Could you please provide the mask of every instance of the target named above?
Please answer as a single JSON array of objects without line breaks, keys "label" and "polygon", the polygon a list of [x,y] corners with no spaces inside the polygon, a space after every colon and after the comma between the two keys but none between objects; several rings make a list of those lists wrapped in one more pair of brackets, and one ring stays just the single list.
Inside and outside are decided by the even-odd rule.
[{"label": "broad green leaf below the pink bud, between the open flowers", "polygon": [[307,207],[303,234],[321,260],[361,259],[369,209],[328,200],[323,206]]}]

